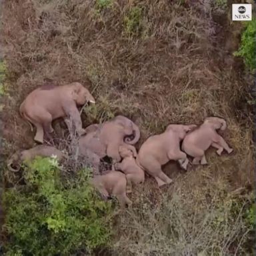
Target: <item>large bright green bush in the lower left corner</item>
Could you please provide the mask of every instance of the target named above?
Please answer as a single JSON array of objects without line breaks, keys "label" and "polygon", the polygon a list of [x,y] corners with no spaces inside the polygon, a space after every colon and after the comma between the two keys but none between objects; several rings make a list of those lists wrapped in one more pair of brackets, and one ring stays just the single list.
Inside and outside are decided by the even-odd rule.
[{"label": "large bright green bush in the lower left corner", "polygon": [[107,245],[111,233],[104,217],[111,205],[99,199],[88,179],[88,170],[61,178],[55,159],[28,163],[27,185],[5,192],[6,255],[71,255]]}]

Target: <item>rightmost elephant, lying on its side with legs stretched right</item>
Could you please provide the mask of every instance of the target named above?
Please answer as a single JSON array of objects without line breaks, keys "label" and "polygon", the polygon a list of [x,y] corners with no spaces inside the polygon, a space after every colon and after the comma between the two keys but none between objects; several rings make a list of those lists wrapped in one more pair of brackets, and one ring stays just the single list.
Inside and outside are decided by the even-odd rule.
[{"label": "rightmost elephant, lying on its side with legs stretched right", "polygon": [[219,117],[207,117],[203,124],[189,133],[182,143],[182,150],[194,157],[193,165],[207,164],[205,159],[205,151],[210,146],[217,149],[217,154],[221,155],[223,149],[227,153],[231,153],[233,149],[227,145],[223,137],[221,137],[216,130],[221,129],[224,131],[227,128],[227,123],[224,119]]}]

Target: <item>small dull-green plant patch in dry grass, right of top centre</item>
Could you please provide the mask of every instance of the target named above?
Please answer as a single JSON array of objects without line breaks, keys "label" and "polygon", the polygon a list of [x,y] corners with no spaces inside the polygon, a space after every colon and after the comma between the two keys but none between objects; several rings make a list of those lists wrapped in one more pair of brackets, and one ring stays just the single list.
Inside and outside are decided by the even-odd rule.
[{"label": "small dull-green plant patch in dry grass, right of top centre", "polygon": [[131,7],[127,15],[124,17],[125,33],[129,36],[137,35],[142,28],[142,14],[141,7]]}]

